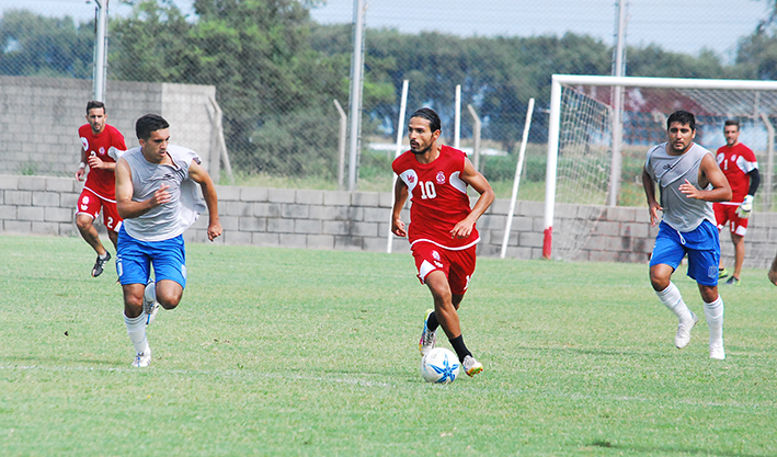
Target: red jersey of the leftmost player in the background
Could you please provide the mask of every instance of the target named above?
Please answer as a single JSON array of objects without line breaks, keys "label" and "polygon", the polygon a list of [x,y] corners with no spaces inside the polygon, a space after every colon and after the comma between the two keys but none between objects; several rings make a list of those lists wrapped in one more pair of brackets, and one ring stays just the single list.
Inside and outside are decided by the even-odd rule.
[{"label": "red jersey of the leftmost player in the background", "polygon": [[[107,150],[113,146],[116,149],[126,151],[124,136],[113,126],[105,124],[105,128],[100,135],[92,133],[92,127],[84,124],[78,128],[78,136],[81,137],[81,147],[87,151],[87,156],[95,155],[103,162],[115,162]],[[116,175],[111,170],[92,170],[87,174],[87,182],[83,184],[99,196],[105,199],[116,199]]]}]

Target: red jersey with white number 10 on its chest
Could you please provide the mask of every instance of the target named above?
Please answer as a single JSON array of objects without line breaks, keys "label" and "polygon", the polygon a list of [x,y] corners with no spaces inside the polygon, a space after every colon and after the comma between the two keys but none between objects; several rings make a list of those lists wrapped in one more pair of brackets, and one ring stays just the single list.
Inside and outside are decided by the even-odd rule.
[{"label": "red jersey with white number 10 on its chest", "polygon": [[469,238],[452,238],[450,230],[471,212],[467,183],[459,174],[467,156],[448,146],[439,148],[439,157],[432,163],[421,163],[412,151],[395,159],[391,168],[408,186],[410,196],[410,225],[408,239],[430,241],[442,248],[460,250],[480,241],[472,227]]}]

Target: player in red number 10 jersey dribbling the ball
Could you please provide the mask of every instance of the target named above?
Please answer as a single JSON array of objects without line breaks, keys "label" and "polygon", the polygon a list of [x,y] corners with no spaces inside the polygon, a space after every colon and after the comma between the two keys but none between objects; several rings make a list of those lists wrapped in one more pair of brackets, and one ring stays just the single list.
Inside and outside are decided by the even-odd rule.
[{"label": "player in red number 10 jersey dribbling the ball", "polygon": [[[434,309],[424,318],[421,354],[434,347],[437,327],[442,325],[465,372],[475,376],[483,365],[464,343],[457,309],[475,273],[475,251],[480,241],[475,222],[491,206],[494,193],[462,151],[437,142],[439,134],[439,116],[434,111],[424,107],[410,117],[410,150],[392,163],[399,179],[393,191],[391,232],[408,237],[419,279],[434,298]],[[468,186],[480,194],[473,207]],[[405,227],[400,212],[408,197],[412,204]]]}]

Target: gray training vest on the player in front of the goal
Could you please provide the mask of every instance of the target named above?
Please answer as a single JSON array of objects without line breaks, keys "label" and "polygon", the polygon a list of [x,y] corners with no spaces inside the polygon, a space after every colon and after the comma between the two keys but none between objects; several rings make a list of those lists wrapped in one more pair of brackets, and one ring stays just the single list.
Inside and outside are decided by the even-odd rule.
[{"label": "gray training vest on the player in front of the goal", "polygon": [[[705,155],[712,152],[693,144],[682,156],[666,153],[666,142],[656,145],[648,151],[645,170],[661,191],[661,206],[664,208],[663,220],[679,232],[697,228],[705,219],[716,225],[712,203],[690,198],[679,192],[679,185],[688,180],[699,187],[699,165]],[[712,156],[715,159],[715,156]],[[711,184],[707,190],[711,188]]]}]

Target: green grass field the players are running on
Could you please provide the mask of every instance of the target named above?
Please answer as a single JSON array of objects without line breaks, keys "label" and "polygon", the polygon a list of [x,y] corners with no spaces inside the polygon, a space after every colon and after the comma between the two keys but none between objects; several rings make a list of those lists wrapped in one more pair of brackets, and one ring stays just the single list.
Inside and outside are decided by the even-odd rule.
[{"label": "green grass field the players are running on", "polygon": [[485,372],[436,386],[409,255],[187,250],[135,369],[115,273],[91,278],[83,241],[0,237],[0,455],[777,455],[764,271],[721,288],[717,362],[704,320],[674,349],[645,265],[481,259],[460,316]]}]

